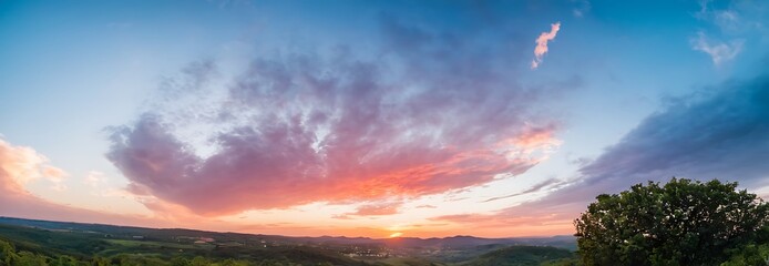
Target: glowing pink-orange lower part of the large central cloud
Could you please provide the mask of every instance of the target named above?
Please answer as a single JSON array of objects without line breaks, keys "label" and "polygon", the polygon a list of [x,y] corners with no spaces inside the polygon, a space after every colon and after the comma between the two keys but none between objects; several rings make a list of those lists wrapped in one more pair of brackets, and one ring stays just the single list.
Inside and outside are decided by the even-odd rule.
[{"label": "glowing pink-orange lower part of the large central cloud", "polygon": [[120,153],[110,154],[132,180],[130,191],[204,215],[317,201],[347,203],[416,197],[483,184],[496,174],[521,174],[536,163],[530,158],[509,158],[496,151],[498,145],[478,150],[428,149],[419,142],[389,151],[338,143],[335,145],[339,150],[328,149],[318,154],[309,142],[301,149],[291,146],[297,139],[283,130],[279,134],[269,133],[274,134],[269,143],[263,143],[259,139],[264,136],[258,134],[238,135],[235,140],[227,136],[230,143],[225,142],[219,154],[201,160],[181,144],[160,149],[176,141],[164,142],[171,136],[161,133],[163,130],[155,122],[143,123],[129,135],[134,143],[115,147]]}]

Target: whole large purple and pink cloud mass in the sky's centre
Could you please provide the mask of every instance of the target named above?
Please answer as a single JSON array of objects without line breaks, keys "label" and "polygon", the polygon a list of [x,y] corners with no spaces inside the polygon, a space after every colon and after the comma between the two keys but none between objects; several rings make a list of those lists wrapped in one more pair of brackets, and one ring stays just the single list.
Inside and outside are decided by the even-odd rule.
[{"label": "whole large purple and pink cloud mass in the sky's centre", "polygon": [[506,47],[392,18],[381,31],[373,61],[279,52],[224,85],[207,85],[214,64],[193,64],[168,82],[171,101],[112,129],[106,157],[136,194],[224,215],[444,193],[521,174],[557,146],[535,108],[557,92],[519,85]]}]

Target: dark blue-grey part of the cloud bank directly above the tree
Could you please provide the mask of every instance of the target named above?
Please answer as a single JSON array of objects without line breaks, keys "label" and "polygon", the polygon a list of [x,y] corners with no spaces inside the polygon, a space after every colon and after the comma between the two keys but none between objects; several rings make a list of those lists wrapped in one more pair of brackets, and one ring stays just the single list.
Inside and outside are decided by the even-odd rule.
[{"label": "dark blue-grey part of the cloud bank directly above the tree", "polygon": [[[581,170],[588,183],[671,176],[769,185],[769,76],[674,101]],[[654,178],[657,176],[656,178]]]}]

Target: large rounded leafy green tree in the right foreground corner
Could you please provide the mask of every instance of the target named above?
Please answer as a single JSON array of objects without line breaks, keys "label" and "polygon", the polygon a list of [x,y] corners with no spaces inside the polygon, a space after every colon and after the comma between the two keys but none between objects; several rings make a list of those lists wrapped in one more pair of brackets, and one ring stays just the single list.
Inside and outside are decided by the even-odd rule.
[{"label": "large rounded leafy green tree in the right foreground corner", "polygon": [[768,204],[717,180],[649,182],[596,198],[574,221],[585,265],[719,265],[769,225]]}]

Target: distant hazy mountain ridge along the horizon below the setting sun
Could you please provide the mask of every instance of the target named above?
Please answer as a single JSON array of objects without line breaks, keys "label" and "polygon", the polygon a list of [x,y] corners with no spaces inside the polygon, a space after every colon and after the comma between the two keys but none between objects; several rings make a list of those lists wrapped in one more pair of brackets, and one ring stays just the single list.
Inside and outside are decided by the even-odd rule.
[{"label": "distant hazy mountain ridge along the horizon below the setting sun", "polygon": [[136,226],[120,226],[105,224],[85,224],[73,222],[55,222],[41,219],[25,219],[16,217],[0,216],[0,224],[39,227],[54,231],[78,231],[88,233],[120,234],[123,236],[137,236],[147,238],[167,239],[180,235],[194,237],[209,237],[228,242],[248,242],[265,239],[276,243],[290,244],[355,244],[355,245],[386,245],[400,248],[468,248],[474,246],[489,245],[531,245],[531,246],[553,246],[576,250],[576,238],[574,236],[551,236],[551,237],[507,237],[507,238],[483,238],[466,235],[450,237],[397,237],[397,238],[370,238],[370,237],[346,237],[346,236],[319,236],[319,237],[295,237],[281,235],[262,235],[245,233],[221,233],[185,228],[146,228]]}]

